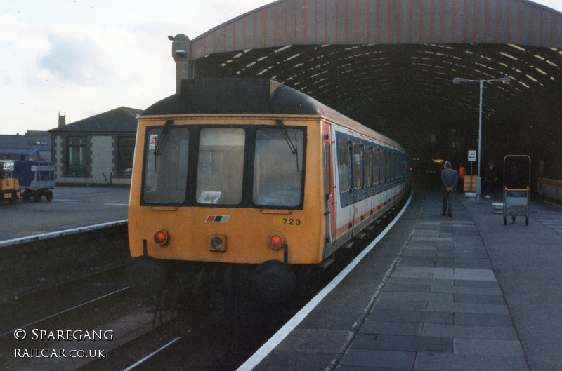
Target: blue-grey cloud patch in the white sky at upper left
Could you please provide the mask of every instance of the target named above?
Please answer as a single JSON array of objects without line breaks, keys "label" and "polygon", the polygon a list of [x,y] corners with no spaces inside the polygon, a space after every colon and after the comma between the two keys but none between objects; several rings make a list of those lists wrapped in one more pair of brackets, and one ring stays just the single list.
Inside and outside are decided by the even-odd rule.
[{"label": "blue-grey cloud patch in the white sky at upper left", "polygon": [[65,83],[100,86],[108,81],[110,70],[92,39],[49,34],[48,41],[51,48],[39,56],[39,69]]}]

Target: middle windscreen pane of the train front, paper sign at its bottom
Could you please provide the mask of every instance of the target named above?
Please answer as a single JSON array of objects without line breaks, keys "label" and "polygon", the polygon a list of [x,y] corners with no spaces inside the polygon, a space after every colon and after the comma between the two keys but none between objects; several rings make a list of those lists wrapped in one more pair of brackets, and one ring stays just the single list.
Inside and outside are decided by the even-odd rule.
[{"label": "middle windscreen pane of the train front, paper sign at its bottom", "polygon": [[236,205],[242,201],[244,145],[242,128],[204,128],[197,161],[198,203]]}]

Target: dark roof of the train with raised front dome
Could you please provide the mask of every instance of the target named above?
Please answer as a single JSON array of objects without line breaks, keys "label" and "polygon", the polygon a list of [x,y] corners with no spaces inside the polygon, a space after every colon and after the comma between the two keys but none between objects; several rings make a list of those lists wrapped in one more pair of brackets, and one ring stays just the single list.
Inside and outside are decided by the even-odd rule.
[{"label": "dark roof of the train with raised front dome", "polygon": [[145,109],[141,116],[168,114],[320,115],[403,149],[400,144],[353,121],[313,97],[269,79],[186,79],[180,92]]}]

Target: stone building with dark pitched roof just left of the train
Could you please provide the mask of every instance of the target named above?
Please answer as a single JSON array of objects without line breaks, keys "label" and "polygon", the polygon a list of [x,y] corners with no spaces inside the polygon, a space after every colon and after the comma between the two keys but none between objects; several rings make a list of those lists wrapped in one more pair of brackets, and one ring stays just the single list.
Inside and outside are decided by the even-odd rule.
[{"label": "stone building with dark pitched roof just left of the train", "polygon": [[49,130],[56,184],[128,187],[141,112],[119,107],[69,124],[59,115],[58,128]]}]

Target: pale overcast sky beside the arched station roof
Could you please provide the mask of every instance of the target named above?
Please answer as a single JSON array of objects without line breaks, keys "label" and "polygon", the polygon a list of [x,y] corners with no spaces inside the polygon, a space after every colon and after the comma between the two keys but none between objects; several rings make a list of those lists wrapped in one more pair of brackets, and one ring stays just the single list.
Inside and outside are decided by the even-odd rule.
[{"label": "pale overcast sky beside the arched station roof", "polygon": [[[0,0],[0,134],[48,130],[174,94],[168,35],[190,39],[268,0]],[[562,0],[539,0],[562,11]]]}]

